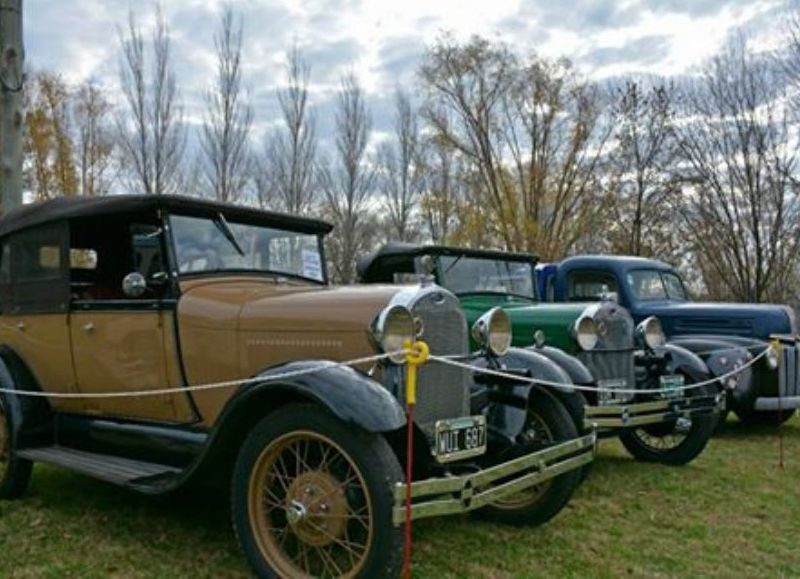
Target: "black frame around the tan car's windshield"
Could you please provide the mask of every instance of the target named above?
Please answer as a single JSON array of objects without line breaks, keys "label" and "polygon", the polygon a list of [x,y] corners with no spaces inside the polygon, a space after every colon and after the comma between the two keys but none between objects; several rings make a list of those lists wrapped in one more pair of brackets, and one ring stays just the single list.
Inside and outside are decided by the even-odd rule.
[{"label": "black frame around the tan car's windshield", "polygon": [[[259,222],[257,220],[243,220],[243,219],[228,219],[225,217],[224,212],[218,212],[219,215],[226,220],[229,225],[246,225],[251,227],[261,227],[265,229],[272,229],[275,231],[286,231],[288,233],[297,233],[299,235],[309,235],[314,236],[316,238],[316,247],[319,252],[320,257],[320,273],[322,279],[315,279],[311,277],[306,277],[303,275],[299,275],[293,272],[288,271],[279,271],[279,270],[271,270],[271,269],[248,269],[248,268],[225,268],[225,269],[207,269],[207,270],[199,270],[199,271],[180,271],[178,267],[178,255],[177,255],[177,243],[175,241],[174,235],[174,223],[172,218],[173,217],[191,217],[195,219],[205,219],[210,223],[214,223],[215,227],[216,222],[219,220],[219,215],[217,214],[200,214],[200,213],[193,213],[193,212],[183,212],[183,211],[168,211],[164,214],[164,224],[165,229],[168,234],[168,253],[169,253],[169,260],[171,263],[170,270],[172,272],[172,277],[175,279],[194,279],[198,277],[231,277],[231,276],[246,276],[246,277],[269,277],[269,278],[289,278],[293,280],[303,281],[306,283],[311,283],[320,286],[327,286],[330,285],[330,278],[328,277],[328,263],[325,256],[325,243],[324,238],[325,234],[320,232],[311,232],[311,231],[301,231],[299,229],[294,229],[291,227],[280,227],[275,224],[266,224],[263,222]],[[230,242],[229,239],[226,239],[226,242]],[[233,245],[231,246],[233,247]]]}]

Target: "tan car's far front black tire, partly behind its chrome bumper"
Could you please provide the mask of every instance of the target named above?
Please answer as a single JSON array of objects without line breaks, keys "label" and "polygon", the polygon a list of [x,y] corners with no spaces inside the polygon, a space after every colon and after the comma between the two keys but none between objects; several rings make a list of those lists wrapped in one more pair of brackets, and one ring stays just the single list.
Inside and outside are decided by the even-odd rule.
[{"label": "tan car's far front black tire, partly behind its chrome bumper", "polygon": [[[532,425],[536,420],[546,426],[551,438],[547,441],[549,443],[565,442],[579,436],[575,421],[564,405],[547,392],[532,390],[528,411]],[[525,452],[533,450],[535,448],[528,446]],[[509,497],[507,501],[478,509],[475,515],[509,525],[542,525],[567,505],[580,485],[583,473],[584,469],[571,470],[542,484],[536,494],[520,493]]]}]

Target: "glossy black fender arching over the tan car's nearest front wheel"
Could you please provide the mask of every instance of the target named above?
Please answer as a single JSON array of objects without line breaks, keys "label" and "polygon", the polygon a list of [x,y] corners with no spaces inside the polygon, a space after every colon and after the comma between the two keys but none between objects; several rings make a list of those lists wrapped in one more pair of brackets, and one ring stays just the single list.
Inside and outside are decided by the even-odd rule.
[{"label": "glossy black fender arching over the tan car's nearest front wheel", "polygon": [[[266,390],[275,388],[312,399],[337,418],[368,432],[389,432],[405,426],[405,410],[398,400],[369,376],[348,366],[329,366],[322,360],[289,362],[259,373],[264,382],[241,388],[231,403],[248,404]],[[280,375],[316,368],[315,372],[290,378]],[[276,380],[270,380],[278,377]],[[269,409],[265,409],[269,410]]]}]

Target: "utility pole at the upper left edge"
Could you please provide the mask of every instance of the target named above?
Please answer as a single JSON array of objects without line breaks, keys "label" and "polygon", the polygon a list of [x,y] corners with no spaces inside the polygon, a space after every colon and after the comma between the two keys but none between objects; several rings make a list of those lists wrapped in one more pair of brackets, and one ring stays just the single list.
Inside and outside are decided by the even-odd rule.
[{"label": "utility pole at the upper left edge", "polygon": [[0,213],[22,205],[22,0],[0,0]]}]

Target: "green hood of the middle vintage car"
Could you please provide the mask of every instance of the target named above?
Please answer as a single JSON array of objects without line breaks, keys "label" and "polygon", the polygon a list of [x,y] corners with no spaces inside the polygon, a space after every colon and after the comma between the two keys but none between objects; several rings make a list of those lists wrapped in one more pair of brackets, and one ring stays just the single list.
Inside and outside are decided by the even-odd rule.
[{"label": "green hood of the middle vintage car", "polygon": [[542,330],[549,346],[572,352],[575,341],[571,329],[575,320],[593,304],[590,303],[534,303],[505,295],[462,295],[461,305],[472,325],[484,312],[502,307],[511,319],[513,344],[526,347],[533,344],[533,334]]}]

